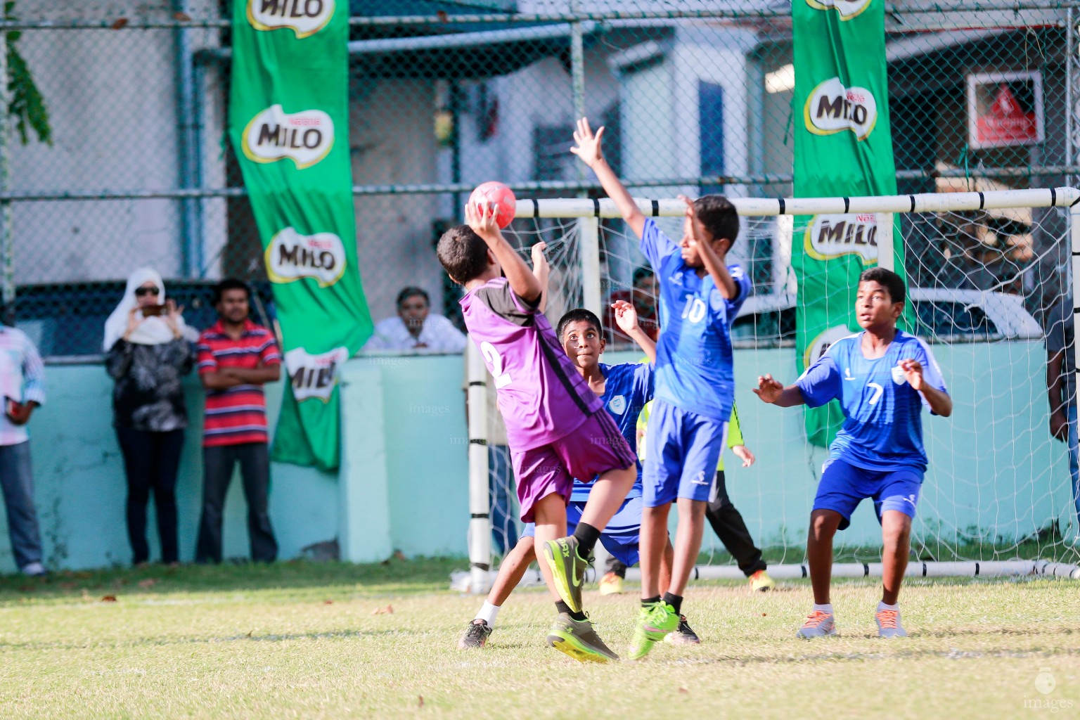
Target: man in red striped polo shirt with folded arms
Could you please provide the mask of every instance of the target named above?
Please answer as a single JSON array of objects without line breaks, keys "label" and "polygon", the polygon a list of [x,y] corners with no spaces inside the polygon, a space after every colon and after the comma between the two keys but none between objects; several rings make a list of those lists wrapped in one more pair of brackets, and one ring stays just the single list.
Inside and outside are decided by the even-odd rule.
[{"label": "man in red striped polo shirt with folded arms", "polygon": [[195,562],[221,561],[221,519],[232,470],[240,463],[247,500],[252,559],[272,562],[270,453],[262,385],[281,378],[281,351],[267,328],[247,318],[251,290],[239,280],[214,288],[218,322],[199,337],[198,367],[206,389],[203,435],[203,510]]}]

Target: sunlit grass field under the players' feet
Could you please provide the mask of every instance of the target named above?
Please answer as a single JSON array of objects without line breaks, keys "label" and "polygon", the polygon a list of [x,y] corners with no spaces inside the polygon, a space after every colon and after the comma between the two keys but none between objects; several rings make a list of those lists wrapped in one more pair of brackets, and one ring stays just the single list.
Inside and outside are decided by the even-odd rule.
[{"label": "sunlit grass field under the players' feet", "polygon": [[[487,648],[456,650],[480,606],[445,589],[464,566],[3,578],[0,718],[1080,718],[1069,581],[915,581],[902,597],[912,637],[893,641],[875,634],[876,582],[837,584],[841,636],[818,641],[794,637],[805,582],[755,596],[696,584],[685,611],[700,647],[586,666],[544,646],[554,608],[541,589],[511,598]],[[634,595],[586,604],[623,652]]]}]

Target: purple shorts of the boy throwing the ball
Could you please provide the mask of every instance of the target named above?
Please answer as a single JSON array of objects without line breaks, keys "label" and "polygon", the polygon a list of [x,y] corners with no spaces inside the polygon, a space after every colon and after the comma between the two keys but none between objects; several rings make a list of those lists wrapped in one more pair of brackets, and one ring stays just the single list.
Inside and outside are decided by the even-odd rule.
[{"label": "purple shorts of the boy throwing the ball", "polygon": [[510,458],[523,522],[532,522],[532,506],[553,492],[569,502],[573,478],[588,481],[610,470],[633,467],[637,461],[605,410],[594,412],[580,427],[554,443],[521,452],[511,448]]}]

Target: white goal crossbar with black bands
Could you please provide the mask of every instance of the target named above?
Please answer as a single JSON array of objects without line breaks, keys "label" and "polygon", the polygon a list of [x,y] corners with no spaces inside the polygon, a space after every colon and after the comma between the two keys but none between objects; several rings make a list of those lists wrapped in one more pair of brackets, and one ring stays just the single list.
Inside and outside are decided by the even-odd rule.
[{"label": "white goal crossbar with black bands", "polygon": [[[989,192],[924,192],[912,195],[859,198],[729,198],[742,216],[847,215],[851,213],[949,213],[1004,207],[1070,207],[1080,202],[1076,188],[994,190]],[[665,198],[635,198],[650,217],[681,217],[686,204]],[[514,218],[622,217],[609,198],[554,198],[518,200]]]}]

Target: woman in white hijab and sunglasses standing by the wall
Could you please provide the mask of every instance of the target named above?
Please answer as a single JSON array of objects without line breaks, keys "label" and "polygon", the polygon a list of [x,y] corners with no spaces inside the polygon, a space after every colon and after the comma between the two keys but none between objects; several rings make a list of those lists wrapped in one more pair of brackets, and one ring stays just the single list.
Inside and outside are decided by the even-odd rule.
[{"label": "woman in white hijab and sunglasses standing by the wall", "polygon": [[141,268],[105,322],[105,367],[117,381],[113,425],[127,475],[127,536],[134,563],[147,562],[146,505],[153,490],[161,561],[179,560],[176,476],[188,425],[181,377],[191,371],[198,334],[184,308],[165,299],[161,275]]}]

